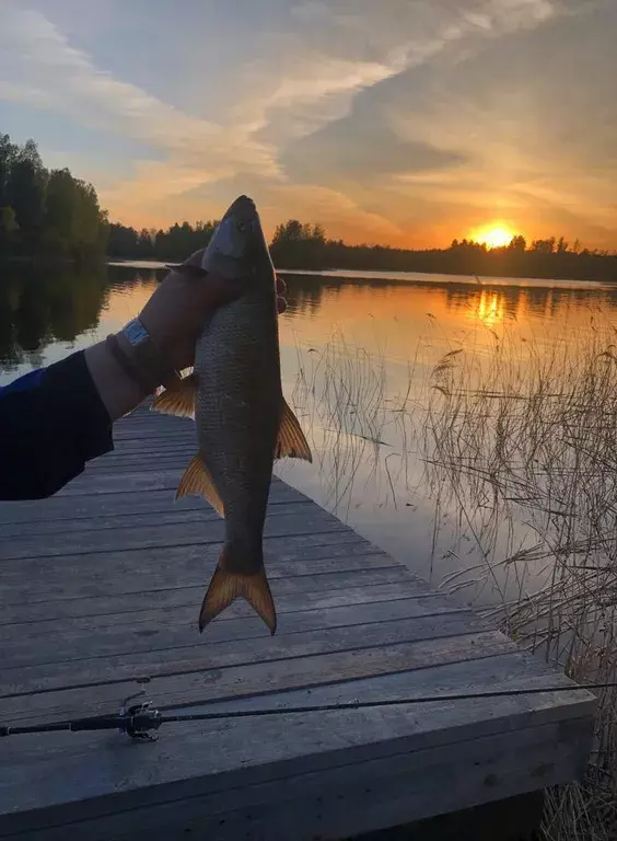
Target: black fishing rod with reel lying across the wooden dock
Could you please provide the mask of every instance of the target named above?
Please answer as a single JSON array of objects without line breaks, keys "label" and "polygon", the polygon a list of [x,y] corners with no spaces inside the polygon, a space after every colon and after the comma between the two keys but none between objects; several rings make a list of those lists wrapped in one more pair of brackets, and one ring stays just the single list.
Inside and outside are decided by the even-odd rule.
[{"label": "black fishing rod with reel lying across the wooden dock", "polygon": [[[388,699],[382,701],[349,701],[344,704],[312,704],[292,707],[266,707],[263,710],[235,710],[218,713],[181,713],[170,715],[152,707],[151,701],[129,702],[145,693],[145,690],[136,692],[126,698],[119,713],[115,715],[90,716],[74,718],[69,722],[53,722],[49,724],[33,724],[25,726],[0,726],[2,736],[25,736],[42,733],[83,733],[93,730],[119,730],[136,741],[156,741],[154,733],[163,724],[182,724],[184,722],[216,722],[229,718],[258,718],[271,715],[291,715],[307,713],[342,712],[344,710],[371,710],[387,706],[406,706],[412,704],[428,704],[443,701],[475,701],[486,698],[516,698],[520,695],[537,695],[546,692],[578,692],[580,690],[615,689],[617,681],[605,683],[577,683],[570,687],[531,687],[528,689],[489,690],[487,692],[458,692],[441,695],[420,695],[417,698]],[[209,704],[216,701],[206,702]],[[200,706],[196,703],[194,706]]]}]

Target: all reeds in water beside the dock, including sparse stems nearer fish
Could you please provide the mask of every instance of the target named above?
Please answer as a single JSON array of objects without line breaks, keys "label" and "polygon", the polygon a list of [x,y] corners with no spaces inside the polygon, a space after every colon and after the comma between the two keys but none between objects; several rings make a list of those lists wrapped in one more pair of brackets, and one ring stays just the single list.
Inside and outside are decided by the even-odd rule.
[{"label": "all reeds in water beside the dock, including sparse stems nearer fish", "polygon": [[[457,561],[441,586],[574,680],[616,680],[617,331],[596,316],[546,343],[517,327],[490,336],[423,378],[416,354],[394,395],[383,357],[340,335],[299,356],[293,402],[321,430],[329,507],[345,514],[366,472],[396,506],[410,460],[421,461],[433,552],[446,511],[445,554]],[[596,694],[587,772],[547,793],[546,841],[617,837],[617,692]]]}]

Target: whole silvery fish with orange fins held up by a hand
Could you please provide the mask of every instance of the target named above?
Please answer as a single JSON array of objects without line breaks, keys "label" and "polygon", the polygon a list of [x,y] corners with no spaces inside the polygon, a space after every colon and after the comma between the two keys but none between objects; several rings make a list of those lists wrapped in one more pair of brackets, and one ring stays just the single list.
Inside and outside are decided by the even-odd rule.
[{"label": "whole silvery fish with orange fins held up by a hand", "polygon": [[176,499],[199,495],[224,517],[225,541],[199,613],[199,631],[244,598],[276,633],[264,564],[264,523],[273,464],[312,461],[281,382],[276,273],[255,203],[238,196],[208,246],[174,267],[207,283],[216,273],[242,281],[240,297],[207,319],[193,372],[156,395],[152,408],[193,417],[198,449]]}]

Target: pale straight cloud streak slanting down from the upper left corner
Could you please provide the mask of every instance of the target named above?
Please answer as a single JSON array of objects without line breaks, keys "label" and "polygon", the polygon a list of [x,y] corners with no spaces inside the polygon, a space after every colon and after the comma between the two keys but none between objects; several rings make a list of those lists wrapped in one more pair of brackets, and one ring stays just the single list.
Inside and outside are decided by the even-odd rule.
[{"label": "pale straight cloud streak slanting down from the upper left corner", "polygon": [[[0,99],[55,111],[89,127],[147,142],[208,178],[203,151],[234,168],[271,165],[269,150],[210,120],[190,116],[116,79],[72,47],[43,14],[0,0]],[[174,163],[174,168],[178,163]],[[211,173],[218,176],[218,170]]]}]

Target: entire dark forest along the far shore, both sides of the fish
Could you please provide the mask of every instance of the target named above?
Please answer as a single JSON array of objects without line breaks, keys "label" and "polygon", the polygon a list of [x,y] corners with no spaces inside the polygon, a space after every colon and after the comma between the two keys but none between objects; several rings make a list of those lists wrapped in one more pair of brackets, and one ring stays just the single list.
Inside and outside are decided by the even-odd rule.
[{"label": "entire dark forest along the far shore, both sides of the fish", "polygon": [[[57,257],[179,262],[210,241],[217,221],[136,230],[109,222],[92,184],[68,169],[47,170],[36,143],[11,142],[0,134],[0,258]],[[572,278],[617,281],[617,254],[591,251],[563,238],[527,243],[515,237],[487,249],[454,240],[447,249],[412,251],[386,245],[348,245],[328,239],[321,224],[295,219],[279,224],[270,251],[277,268],[428,272],[479,276]]]}]

